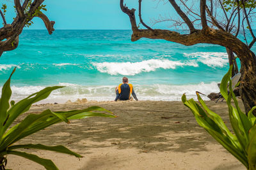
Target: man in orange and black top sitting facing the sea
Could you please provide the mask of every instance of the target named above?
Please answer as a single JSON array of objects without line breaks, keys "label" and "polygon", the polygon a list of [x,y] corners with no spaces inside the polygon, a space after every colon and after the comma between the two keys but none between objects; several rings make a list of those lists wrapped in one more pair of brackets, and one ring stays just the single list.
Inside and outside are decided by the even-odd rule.
[{"label": "man in orange and black top sitting facing the sea", "polygon": [[118,85],[118,87],[116,87],[116,98],[115,101],[117,101],[118,99],[120,101],[127,101],[129,99],[131,99],[131,94],[134,97],[134,99],[136,101],[138,101],[136,94],[133,90],[132,84],[128,84],[128,78],[127,77],[123,77],[123,83],[121,83],[120,85]]}]

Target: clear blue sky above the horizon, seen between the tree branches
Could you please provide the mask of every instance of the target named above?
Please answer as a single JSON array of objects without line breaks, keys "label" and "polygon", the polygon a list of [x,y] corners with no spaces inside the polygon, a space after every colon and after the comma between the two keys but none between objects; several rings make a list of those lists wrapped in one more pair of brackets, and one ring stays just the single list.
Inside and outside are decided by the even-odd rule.
[{"label": "clear blue sky above the horizon, seen between the tree branches", "polygon": [[[9,22],[13,18],[13,1],[2,0],[8,5],[6,18]],[[129,2],[129,3],[128,3]],[[45,0],[50,20],[56,22],[55,29],[131,29],[129,17],[122,13],[119,0]],[[138,0],[127,0],[129,8],[138,8]],[[150,19],[161,15],[172,15],[172,7],[169,3],[158,3],[158,0],[142,1],[143,20],[150,25]],[[12,11],[12,12],[11,12]],[[138,13],[137,13],[138,14]],[[44,23],[34,18],[30,29],[45,29]],[[139,22],[138,22],[139,23]],[[158,24],[163,29],[170,24]],[[168,28],[168,27],[167,27]]]}]

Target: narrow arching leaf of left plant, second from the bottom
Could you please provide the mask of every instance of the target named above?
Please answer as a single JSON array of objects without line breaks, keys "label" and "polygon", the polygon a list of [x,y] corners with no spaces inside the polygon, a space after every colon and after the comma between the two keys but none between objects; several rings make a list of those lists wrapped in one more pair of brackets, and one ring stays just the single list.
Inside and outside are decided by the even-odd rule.
[{"label": "narrow arching leaf of left plant, second from the bottom", "polygon": [[28,144],[28,145],[15,145],[15,146],[10,146],[8,147],[8,150],[17,150],[19,148],[30,148],[30,149],[38,149],[38,150],[49,150],[53,152],[60,152],[60,153],[66,153],[68,155],[74,155],[75,157],[81,158],[82,156],[72,152],[71,150],[68,150],[68,148],[64,146],[45,146],[41,144],[33,145],[33,144]]}]

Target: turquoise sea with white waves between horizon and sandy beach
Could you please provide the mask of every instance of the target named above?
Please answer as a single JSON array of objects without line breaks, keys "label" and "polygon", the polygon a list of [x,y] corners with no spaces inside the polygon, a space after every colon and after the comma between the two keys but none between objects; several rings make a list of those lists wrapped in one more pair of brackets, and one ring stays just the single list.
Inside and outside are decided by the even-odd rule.
[{"label": "turquoise sea with white waves between horizon and sandy beach", "polygon": [[[180,101],[219,92],[217,83],[228,69],[225,48],[184,46],[159,39],[131,41],[129,30],[24,30],[19,47],[0,58],[0,86],[12,69],[13,99],[19,100],[52,85],[44,102],[68,99],[109,101],[127,76],[139,100]],[[207,97],[205,97],[207,99]]]}]

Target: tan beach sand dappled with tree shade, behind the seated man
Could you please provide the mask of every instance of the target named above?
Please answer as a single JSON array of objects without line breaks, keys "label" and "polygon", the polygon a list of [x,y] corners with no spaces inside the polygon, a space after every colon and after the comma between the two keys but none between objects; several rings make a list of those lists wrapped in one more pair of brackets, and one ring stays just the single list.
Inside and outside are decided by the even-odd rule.
[{"label": "tan beach sand dappled with tree shade, behind the seated man", "polygon": [[[207,101],[227,122],[225,102]],[[230,153],[196,124],[180,102],[118,101],[86,104],[40,104],[31,112],[74,110],[102,106],[117,118],[91,117],[61,123],[23,139],[20,143],[64,145],[84,157],[26,150],[52,159],[60,169],[245,169]],[[44,169],[8,155],[8,169]]]}]

